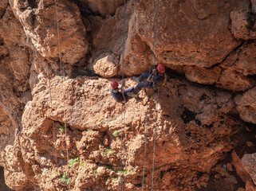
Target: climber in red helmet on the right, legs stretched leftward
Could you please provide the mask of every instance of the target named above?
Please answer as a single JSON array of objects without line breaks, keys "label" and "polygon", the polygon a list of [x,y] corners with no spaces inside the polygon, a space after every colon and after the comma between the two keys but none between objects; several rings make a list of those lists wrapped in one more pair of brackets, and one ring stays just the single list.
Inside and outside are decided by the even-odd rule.
[{"label": "climber in red helmet on the right, legs stretched leftward", "polygon": [[[140,98],[138,96],[141,88],[157,89],[161,88],[167,79],[165,72],[165,67],[163,64],[159,64],[156,68],[152,69],[152,73],[142,73],[139,77],[133,76],[132,79],[136,80],[136,88],[132,92],[128,92],[127,95],[135,98]],[[146,82],[144,82],[146,81]]]}]

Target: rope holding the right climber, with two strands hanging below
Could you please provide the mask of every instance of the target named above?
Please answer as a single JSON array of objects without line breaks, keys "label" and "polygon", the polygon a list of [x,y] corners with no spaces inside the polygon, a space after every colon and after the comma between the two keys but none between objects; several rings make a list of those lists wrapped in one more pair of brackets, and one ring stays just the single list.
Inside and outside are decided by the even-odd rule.
[{"label": "rope holding the right climber, with two strands hanging below", "polygon": [[[158,21],[158,13],[159,13],[159,0],[157,0],[157,8],[156,8],[156,27],[155,27],[155,32],[154,32],[154,41],[153,41],[153,48],[152,48],[152,58],[150,61],[150,66],[149,66],[149,73],[151,72],[152,69],[152,60],[154,57],[154,67],[156,65],[156,34],[157,34],[157,21]],[[148,92],[147,92],[148,96]],[[157,122],[157,106],[158,106],[158,97],[159,97],[159,89],[157,91],[157,103],[156,103],[156,122]],[[145,127],[145,146],[144,146],[144,166],[143,166],[143,178],[142,178],[142,188],[141,190],[143,191],[144,189],[144,177],[145,177],[145,163],[146,163],[146,153],[147,153],[147,138],[148,138],[148,101],[147,101],[147,111],[146,111],[146,127]],[[155,127],[155,136],[154,136],[154,150],[153,150],[153,170],[152,170],[152,189],[153,189],[153,179],[154,179],[154,166],[155,166],[155,145],[156,145],[156,127]]]}]

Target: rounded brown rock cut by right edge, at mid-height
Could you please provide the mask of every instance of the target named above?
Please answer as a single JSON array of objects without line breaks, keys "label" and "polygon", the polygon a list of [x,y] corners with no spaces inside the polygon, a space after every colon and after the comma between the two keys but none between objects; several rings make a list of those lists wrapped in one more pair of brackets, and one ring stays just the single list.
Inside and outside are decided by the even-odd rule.
[{"label": "rounded brown rock cut by right edge, at mid-height", "polygon": [[235,97],[239,116],[246,122],[256,124],[256,88]]}]

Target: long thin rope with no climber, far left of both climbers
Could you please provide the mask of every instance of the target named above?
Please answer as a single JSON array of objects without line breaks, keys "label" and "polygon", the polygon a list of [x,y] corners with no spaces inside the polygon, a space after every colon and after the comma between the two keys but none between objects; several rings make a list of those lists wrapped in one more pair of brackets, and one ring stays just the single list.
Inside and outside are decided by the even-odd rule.
[{"label": "long thin rope with no climber, far left of both climbers", "polygon": [[[68,148],[68,144],[67,144],[67,126],[65,123],[65,99],[64,99],[64,88],[63,88],[63,83],[64,83],[64,74],[62,73],[62,61],[61,61],[61,42],[60,42],[60,29],[59,29],[59,21],[57,18],[57,1],[55,1],[55,12],[56,12],[56,21],[57,21],[57,44],[58,44],[58,51],[59,51],[59,60],[61,63],[61,76],[62,76],[62,86],[61,86],[61,90],[62,90],[62,102],[63,102],[63,120],[64,120],[64,126],[65,126],[65,146],[66,146],[66,155],[67,155],[67,171],[66,171],[66,175],[67,178],[69,180],[69,148]],[[69,186],[69,190],[70,190],[70,184],[68,184]]]}]

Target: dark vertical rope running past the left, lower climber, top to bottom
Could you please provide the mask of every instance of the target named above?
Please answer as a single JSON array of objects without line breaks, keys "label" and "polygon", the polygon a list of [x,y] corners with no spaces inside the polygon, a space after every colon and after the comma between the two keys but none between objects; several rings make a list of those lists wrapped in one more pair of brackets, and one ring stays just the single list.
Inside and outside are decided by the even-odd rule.
[{"label": "dark vertical rope running past the left, lower climber, top to bottom", "polygon": [[[124,25],[123,25],[123,57],[122,57],[122,85],[124,82],[124,49],[125,49],[125,0],[124,0]],[[122,115],[121,115],[121,123],[122,123],[122,136],[121,136],[121,148],[120,148],[120,191],[124,189],[124,126],[125,126],[125,105],[122,103]]]}]

